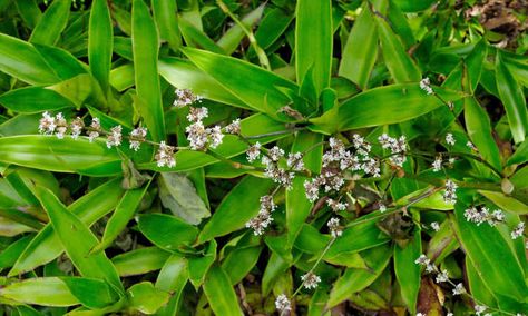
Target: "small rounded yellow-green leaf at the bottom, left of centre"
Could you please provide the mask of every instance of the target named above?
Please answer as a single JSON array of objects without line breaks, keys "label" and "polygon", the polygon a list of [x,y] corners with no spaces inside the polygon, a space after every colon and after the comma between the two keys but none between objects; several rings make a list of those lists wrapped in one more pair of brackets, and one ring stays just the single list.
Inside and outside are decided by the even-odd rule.
[{"label": "small rounded yellow-green leaf at the bottom, left of centre", "polygon": [[127,290],[128,306],[144,314],[154,314],[169,299],[169,294],[149,282],[133,285]]}]

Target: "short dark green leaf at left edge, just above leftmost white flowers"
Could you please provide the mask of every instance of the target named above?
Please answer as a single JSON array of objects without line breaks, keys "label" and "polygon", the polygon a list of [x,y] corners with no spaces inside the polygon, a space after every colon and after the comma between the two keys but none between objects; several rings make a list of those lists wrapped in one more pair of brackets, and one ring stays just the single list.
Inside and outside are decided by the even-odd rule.
[{"label": "short dark green leaf at left edge, just above leftmost white flowers", "polygon": [[74,103],[53,90],[25,87],[0,96],[0,103],[19,113],[36,113],[71,108]]}]

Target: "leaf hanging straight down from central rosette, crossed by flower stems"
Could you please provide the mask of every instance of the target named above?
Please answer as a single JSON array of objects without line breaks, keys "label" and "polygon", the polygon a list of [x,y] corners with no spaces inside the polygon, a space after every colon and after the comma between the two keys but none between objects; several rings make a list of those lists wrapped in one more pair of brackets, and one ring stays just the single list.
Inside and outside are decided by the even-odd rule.
[{"label": "leaf hanging straight down from central rosette, crossed by flower stems", "polygon": [[[323,137],[320,134],[310,131],[299,132],[292,145],[292,152],[302,152],[310,150],[303,155],[304,166],[307,170],[319,174],[321,172],[321,157],[323,155]],[[293,245],[295,238],[301,231],[304,221],[306,220],[312,205],[306,198],[306,190],[304,189],[304,181],[306,177],[297,176],[293,179],[291,190],[286,190],[286,227],[287,227],[287,243]]]}]

